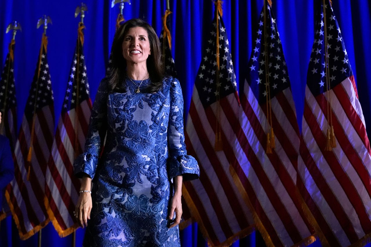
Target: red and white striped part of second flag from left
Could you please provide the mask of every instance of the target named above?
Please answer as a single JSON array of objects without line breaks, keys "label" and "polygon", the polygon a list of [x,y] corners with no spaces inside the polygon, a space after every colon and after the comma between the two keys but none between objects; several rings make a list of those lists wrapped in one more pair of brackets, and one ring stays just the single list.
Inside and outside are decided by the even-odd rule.
[{"label": "red and white striped part of second flag from left", "polygon": [[30,177],[27,180],[27,154],[30,147],[32,119],[23,116],[14,147],[15,178],[7,187],[6,197],[21,239],[27,239],[50,220],[44,204],[45,171],[54,131],[53,105],[44,106],[35,115]]}]

